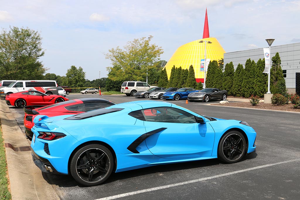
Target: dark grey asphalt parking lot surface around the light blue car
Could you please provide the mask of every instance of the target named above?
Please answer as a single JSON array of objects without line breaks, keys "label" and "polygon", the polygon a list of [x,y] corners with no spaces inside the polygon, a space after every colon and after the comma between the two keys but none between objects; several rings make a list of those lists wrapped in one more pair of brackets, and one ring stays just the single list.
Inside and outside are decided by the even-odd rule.
[{"label": "dark grey asphalt parking lot surface around the light blue car", "polygon": [[[101,97],[115,103],[144,100],[125,95],[67,97]],[[172,103],[202,115],[246,121],[257,132],[256,152],[234,164],[211,159],[114,173],[95,187],[82,187],[71,176],[43,176],[61,199],[299,199],[300,113]],[[13,106],[10,111],[24,130],[24,111]]]}]

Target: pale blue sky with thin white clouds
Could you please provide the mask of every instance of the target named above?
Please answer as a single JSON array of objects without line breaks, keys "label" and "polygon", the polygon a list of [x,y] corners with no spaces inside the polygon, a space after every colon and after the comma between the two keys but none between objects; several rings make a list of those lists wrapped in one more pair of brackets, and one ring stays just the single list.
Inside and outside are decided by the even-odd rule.
[{"label": "pale blue sky with thin white clouds", "polygon": [[[153,38],[168,61],[179,46],[202,39],[207,8],[210,37],[226,52],[300,42],[300,1],[265,0],[0,0],[0,24],[41,34],[46,73],[72,65],[86,79],[107,77],[109,49]],[[99,73],[100,71],[100,73]]]}]

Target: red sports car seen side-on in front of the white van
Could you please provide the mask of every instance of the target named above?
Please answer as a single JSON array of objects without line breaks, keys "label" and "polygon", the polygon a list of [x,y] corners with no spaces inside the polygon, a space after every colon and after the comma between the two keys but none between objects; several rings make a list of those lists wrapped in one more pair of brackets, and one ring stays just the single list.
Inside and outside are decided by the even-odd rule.
[{"label": "red sports car seen side-on in front of the white van", "polygon": [[6,103],[9,106],[16,106],[17,108],[23,108],[24,106],[36,106],[36,105],[51,105],[53,103],[59,103],[69,100],[61,95],[45,94],[36,90],[29,90],[23,92],[17,92],[13,94],[7,94],[5,97]]}]

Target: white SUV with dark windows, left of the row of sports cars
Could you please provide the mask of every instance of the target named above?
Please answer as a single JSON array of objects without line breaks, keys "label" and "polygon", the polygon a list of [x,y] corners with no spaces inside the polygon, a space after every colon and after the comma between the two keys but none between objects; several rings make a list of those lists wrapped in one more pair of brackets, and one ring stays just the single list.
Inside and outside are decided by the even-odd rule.
[{"label": "white SUV with dark windows, left of the row of sports cars", "polygon": [[138,91],[146,91],[150,88],[150,85],[141,81],[125,81],[122,83],[121,92],[126,96],[134,96]]}]

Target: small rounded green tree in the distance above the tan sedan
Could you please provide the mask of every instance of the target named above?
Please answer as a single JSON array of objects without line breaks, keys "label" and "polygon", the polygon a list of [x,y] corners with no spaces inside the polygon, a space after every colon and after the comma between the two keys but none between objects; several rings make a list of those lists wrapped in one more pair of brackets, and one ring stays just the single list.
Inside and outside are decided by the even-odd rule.
[{"label": "small rounded green tree in the distance above the tan sedan", "polygon": [[82,67],[77,68],[74,65],[67,70],[66,77],[63,80],[63,84],[70,88],[81,88],[84,86],[85,82],[85,72]]}]

